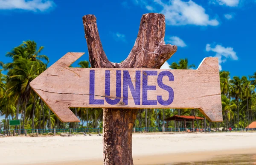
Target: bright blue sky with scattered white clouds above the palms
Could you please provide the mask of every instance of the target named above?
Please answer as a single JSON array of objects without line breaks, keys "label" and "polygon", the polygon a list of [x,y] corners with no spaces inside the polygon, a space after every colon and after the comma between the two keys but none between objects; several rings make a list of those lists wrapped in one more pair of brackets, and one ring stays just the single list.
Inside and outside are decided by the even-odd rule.
[{"label": "bright blue sky with scattered white clouds above the palms", "polygon": [[[231,76],[248,76],[254,67],[256,0],[0,0],[0,61],[25,40],[44,46],[49,65],[67,52],[85,52],[82,16],[94,14],[108,59],[121,62],[130,53],[140,19],[149,12],[166,17],[166,44],[178,50],[164,64],[188,58],[196,67],[204,57],[219,58]],[[73,66],[76,66],[76,62]]]}]

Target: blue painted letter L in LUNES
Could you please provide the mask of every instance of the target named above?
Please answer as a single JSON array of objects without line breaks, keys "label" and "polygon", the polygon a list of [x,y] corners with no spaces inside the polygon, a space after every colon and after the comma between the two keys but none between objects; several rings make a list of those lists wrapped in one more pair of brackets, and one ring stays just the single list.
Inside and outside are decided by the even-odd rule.
[{"label": "blue painted letter L in LUNES", "polygon": [[104,100],[94,99],[94,86],[95,86],[95,73],[94,73],[94,70],[90,70],[89,104],[104,104]]}]

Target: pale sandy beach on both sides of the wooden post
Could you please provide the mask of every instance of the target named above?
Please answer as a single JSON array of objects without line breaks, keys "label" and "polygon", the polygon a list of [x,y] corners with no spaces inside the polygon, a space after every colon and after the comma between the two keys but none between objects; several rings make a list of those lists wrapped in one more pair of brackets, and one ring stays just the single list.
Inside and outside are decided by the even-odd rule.
[{"label": "pale sandy beach on both sides of the wooden post", "polygon": [[[256,154],[256,132],[133,134],[135,165]],[[0,165],[102,165],[102,136],[3,137]]]}]

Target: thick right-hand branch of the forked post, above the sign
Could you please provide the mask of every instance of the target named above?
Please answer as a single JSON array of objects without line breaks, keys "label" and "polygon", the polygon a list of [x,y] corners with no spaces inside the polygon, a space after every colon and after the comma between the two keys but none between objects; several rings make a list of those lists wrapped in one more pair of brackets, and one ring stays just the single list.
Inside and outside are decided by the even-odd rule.
[{"label": "thick right-hand branch of the forked post, above the sign", "polygon": [[121,68],[160,68],[177,51],[177,46],[165,45],[164,19],[157,13],[142,16],[134,47]]}]

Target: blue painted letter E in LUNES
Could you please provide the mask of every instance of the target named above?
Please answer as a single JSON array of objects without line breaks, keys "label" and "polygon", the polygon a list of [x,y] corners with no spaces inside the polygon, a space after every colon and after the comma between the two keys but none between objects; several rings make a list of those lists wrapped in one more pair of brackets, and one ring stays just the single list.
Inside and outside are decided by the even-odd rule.
[{"label": "blue painted letter E in LUNES", "polygon": [[148,100],[148,90],[156,90],[156,86],[148,85],[148,76],[157,76],[157,71],[143,71],[142,105],[157,105],[156,100]]}]

